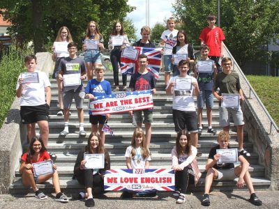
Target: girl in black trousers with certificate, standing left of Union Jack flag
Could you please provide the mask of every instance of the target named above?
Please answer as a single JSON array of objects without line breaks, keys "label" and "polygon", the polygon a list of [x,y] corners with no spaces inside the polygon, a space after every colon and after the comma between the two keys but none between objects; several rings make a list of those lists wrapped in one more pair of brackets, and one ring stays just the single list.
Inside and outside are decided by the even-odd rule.
[{"label": "girl in black trousers with certificate, standing left of Union Jack flag", "polygon": [[[114,71],[114,90],[119,91],[119,65],[121,52],[126,45],[129,44],[127,35],[124,33],[121,22],[114,23],[112,33],[110,34],[109,47],[112,48],[110,52],[110,60],[112,61],[112,68]],[[127,75],[122,75],[123,91],[127,91]]]}]

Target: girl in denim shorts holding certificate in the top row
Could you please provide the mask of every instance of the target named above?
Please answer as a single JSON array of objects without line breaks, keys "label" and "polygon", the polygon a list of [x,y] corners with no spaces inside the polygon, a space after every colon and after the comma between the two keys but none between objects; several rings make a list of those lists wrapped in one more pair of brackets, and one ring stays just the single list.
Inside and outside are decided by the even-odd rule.
[{"label": "girl in denim shorts holding certificate in the top row", "polygon": [[105,49],[103,42],[103,36],[99,32],[96,22],[90,21],[87,25],[86,36],[82,45],[82,49],[85,50],[84,61],[87,69],[87,79],[89,81],[93,78],[96,65],[102,64],[100,50]]}]

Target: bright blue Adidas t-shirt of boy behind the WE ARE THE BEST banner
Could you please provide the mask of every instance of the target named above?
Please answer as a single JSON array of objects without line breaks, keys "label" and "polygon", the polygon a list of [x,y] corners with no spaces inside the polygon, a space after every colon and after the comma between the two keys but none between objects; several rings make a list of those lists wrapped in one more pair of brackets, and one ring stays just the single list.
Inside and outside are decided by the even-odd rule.
[{"label": "bright blue Adidas t-shirt of boy behind the WE ARE THE BEST banner", "polygon": [[[98,82],[96,79],[91,79],[85,88],[85,93],[91,93],[94,97],[111,95],[112,87],[106,80]],[[91,110],[89,110],[89,115],[91,115]]]}]

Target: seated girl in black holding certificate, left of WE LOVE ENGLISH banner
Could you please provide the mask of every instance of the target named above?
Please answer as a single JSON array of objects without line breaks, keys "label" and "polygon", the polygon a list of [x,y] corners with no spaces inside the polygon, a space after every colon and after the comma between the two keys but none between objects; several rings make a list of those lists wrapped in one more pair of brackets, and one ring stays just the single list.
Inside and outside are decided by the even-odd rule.
[{"label": "seated girl in black holding certificate, left of WE LOVE ENGLISH banner", "polygon": [[[103,154],[103,169],[86,169],[88,162],[84,160],[85,154]],[[96,167],[97,162],[96,162]],[[80,150],[77,155],[74,167],[74,177],[77,178],[81,185],[86,188],[86,193],[80,192],[78,199],[84,199],[85,206],[93,207],[95,205],[93,195],[98,196],[105,193],[104,191],[104,175],[105,171],[110,169],[110,155],[104,148],[100,135],[96,132],[90,134],[87,145],[84,149]]]}]

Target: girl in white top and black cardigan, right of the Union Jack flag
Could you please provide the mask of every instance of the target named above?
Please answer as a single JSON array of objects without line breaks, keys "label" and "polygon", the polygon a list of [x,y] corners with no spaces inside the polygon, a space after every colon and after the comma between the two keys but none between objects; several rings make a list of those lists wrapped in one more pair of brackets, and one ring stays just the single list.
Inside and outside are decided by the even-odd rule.
[{"label": "girl in white top and black cardigan, right of the Union Jack flag", "polygon": [[[181,30],[176,36],[176,46],[172,48],[172,54],[188,54],[187,61],[189,63],[194,63],[194,49],[192,45],[188,44],[186,32]],[[174,63],[174,58],[172,58],[172,63]],[[177,65],[173,65],[174,72],[173,76],[179,75],[179,68]],[[188,70],[188,75],[190,70]]]}]

